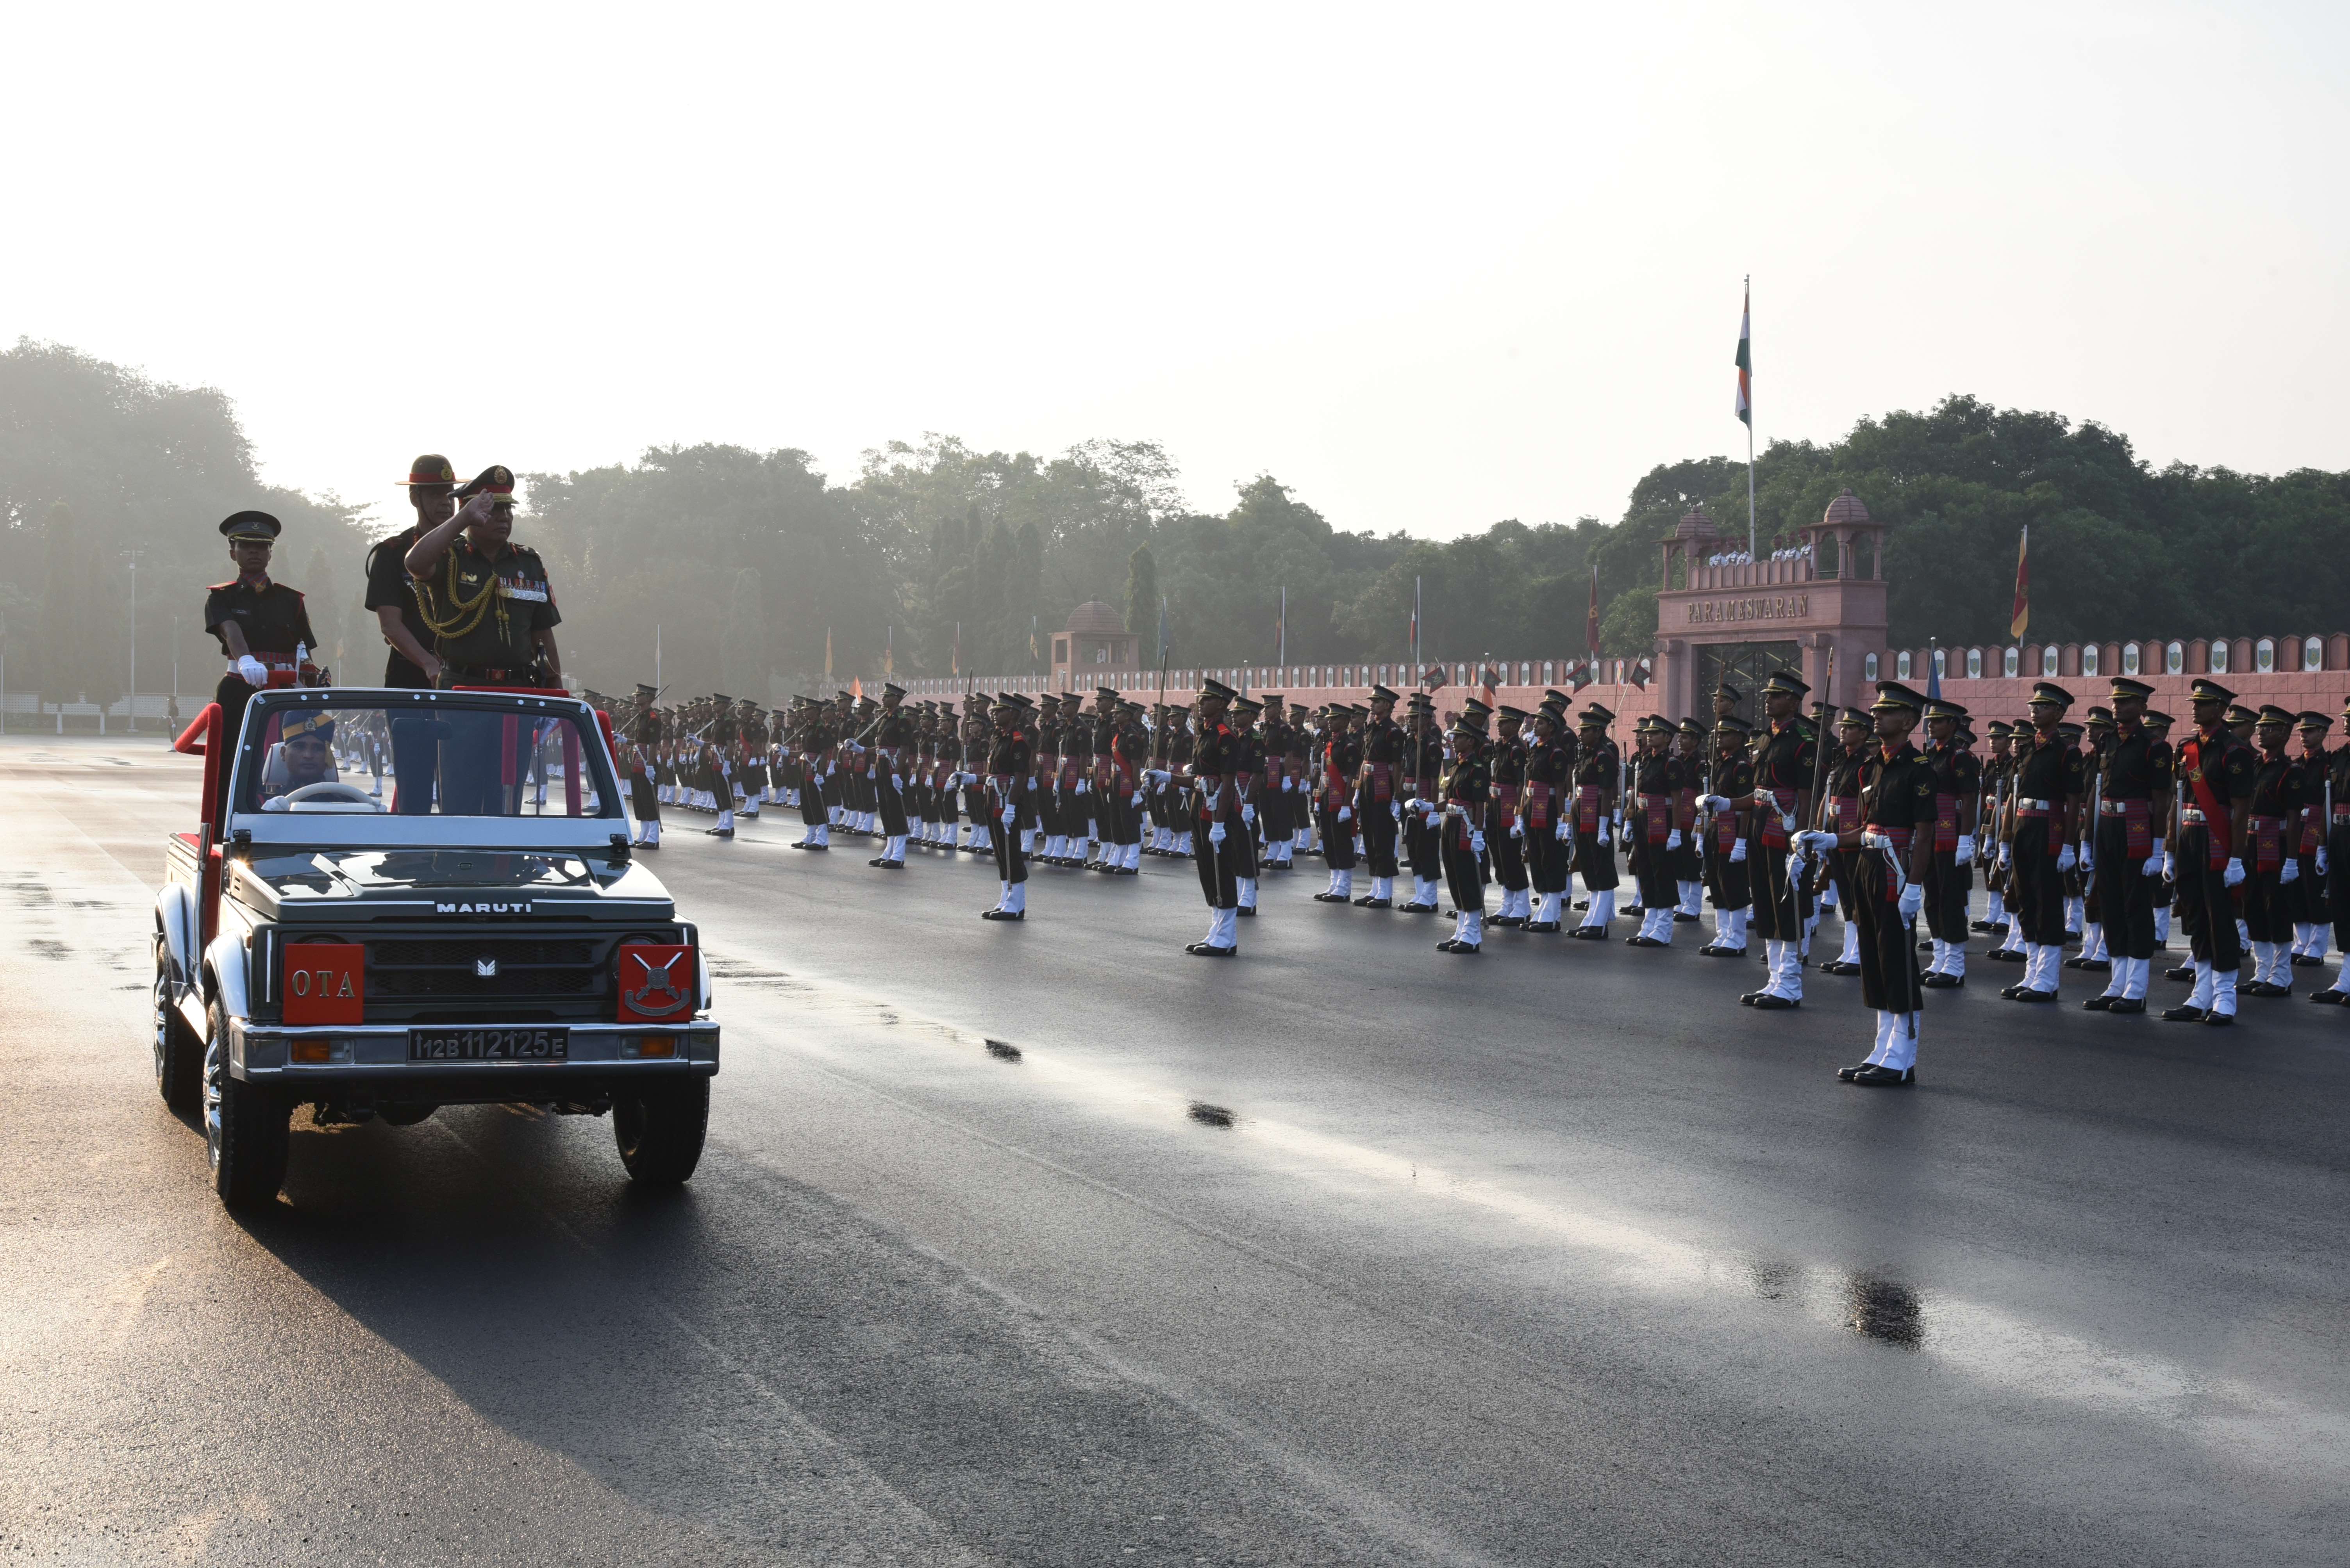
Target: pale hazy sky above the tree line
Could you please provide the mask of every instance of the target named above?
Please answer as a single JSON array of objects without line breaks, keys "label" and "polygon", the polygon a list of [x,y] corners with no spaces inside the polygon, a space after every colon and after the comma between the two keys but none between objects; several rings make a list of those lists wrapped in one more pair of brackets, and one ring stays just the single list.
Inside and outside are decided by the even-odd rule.
[{"label": "pale hazy sky above the tree line", "polygon": [[418,448],[1060,451],[1614,519],[1946,392],[2350,467],[2343,5],[14,5],[0,336]]}]

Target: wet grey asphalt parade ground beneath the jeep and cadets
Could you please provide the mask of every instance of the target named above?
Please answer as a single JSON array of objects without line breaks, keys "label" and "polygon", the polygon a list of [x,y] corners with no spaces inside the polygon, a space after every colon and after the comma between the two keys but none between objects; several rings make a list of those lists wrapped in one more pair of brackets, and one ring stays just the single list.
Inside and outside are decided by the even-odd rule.
[{"label": "wet grey asphalt parade ground beneath the jeep and cadets", "polygon": [[1300,859],[1196,960],[1187,864],[999,925],[971,857],[670,812],[682,1195],[597,1117],[301,1113],[233,1218],[148,1059],[195,798],[0,742],[0,1561],[2345,1556],[2350,1012],[1976,962],[1866,1091],[1859,981],[1753,1014],[1699,927],[1457,960]]}]

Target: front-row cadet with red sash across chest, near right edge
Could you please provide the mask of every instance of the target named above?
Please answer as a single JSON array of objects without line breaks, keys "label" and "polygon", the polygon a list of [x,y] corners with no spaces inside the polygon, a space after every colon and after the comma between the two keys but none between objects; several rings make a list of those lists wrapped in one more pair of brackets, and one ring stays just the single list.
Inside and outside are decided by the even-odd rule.
[{"label": "front-row cadet with red sash across chest, near right edge", "polygon": [[2235,972],[2244,951],[2230,887],[2244,883],[2256,763],[2225,723],[2235,692],[2197,678],[2188,699],[2195,732],[2178,746],[2167,869],[2178,897],[2178,922],[2188,927],[2195,991],[2162,1016],[2171,1023],[2235,1023]]}]

